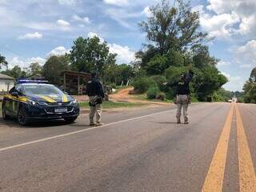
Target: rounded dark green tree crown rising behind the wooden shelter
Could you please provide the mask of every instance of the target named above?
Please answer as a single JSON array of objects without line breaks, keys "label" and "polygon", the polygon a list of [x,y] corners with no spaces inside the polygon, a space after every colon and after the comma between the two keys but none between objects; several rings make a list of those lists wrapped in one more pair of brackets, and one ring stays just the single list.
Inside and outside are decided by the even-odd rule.
[{"label": "rounded dark green tree crown rising behind the wooden shelter", "polygon": [[74,70],[90,72],[97,70],[104,77],[104,70],[115,63],[116,54],[110,54],[106,42],[100,42],[98,37],[82,38],[74,41],[70,51],[70,62]]}]

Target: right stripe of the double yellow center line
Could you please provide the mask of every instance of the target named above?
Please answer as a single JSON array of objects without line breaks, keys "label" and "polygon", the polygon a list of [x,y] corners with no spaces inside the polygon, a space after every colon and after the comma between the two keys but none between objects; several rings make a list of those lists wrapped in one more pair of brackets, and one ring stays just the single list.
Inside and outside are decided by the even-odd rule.
[{"label": "right stripe of the double yellow center line", "polygon": [[256,192],[256,175],[254,164],[250,155],[250,149],[243,128],[241,114],[238,105],[235,104],[238,133],[238,163],[240,192]]}]

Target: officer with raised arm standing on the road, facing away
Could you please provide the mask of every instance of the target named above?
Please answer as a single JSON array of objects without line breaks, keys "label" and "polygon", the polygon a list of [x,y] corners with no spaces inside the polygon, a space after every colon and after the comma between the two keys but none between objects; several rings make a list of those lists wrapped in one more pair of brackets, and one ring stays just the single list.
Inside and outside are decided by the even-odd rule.
[{"label": "officer with raised arm standing on the road, facing away", "polygon": [[170,86],[176,86],[176,96],[174,98],[174,103],[177,105],[177,123],[181,123],[181,115],[183,108],[183,117],[184,123],[189,123],[188,118],[188,106],[190,104],[190,81],[194,76],[194,72],[192,70],[189,71],[188,74],[181,74],[178,82],[174,82],[170,84]]}]

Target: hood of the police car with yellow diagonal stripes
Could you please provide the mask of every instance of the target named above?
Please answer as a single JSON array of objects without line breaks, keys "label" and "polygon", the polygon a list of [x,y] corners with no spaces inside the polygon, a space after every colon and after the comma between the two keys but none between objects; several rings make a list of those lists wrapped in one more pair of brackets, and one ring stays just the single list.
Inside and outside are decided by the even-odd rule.
[{"label": "hood of the police car with yellow diagonal stripes", "polygon": [[74,98],[68,94],[33,94],[27,95],[27,98],[34,102],[72,102]]}]

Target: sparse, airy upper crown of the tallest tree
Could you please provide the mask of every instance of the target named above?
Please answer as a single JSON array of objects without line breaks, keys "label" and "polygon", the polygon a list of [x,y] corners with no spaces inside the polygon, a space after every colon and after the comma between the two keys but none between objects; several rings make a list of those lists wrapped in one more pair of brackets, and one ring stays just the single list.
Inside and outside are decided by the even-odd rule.
[{"label": "sparse, airy upper crown of the tallest tree", "polygon": [[198,31],[199,14],[190,9],[185,0],[162,0],[157,6],[150,7],[151,16],[139,25],[146,32],[147,39],[158,47],[161,54],[168,50],[186,50],[206,40],[207,34]]}]

